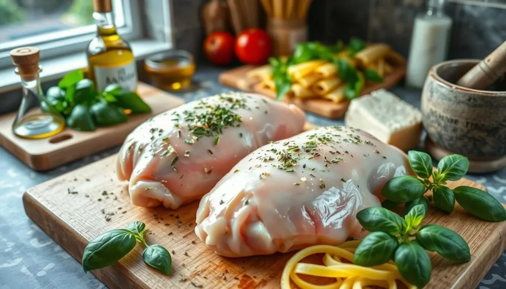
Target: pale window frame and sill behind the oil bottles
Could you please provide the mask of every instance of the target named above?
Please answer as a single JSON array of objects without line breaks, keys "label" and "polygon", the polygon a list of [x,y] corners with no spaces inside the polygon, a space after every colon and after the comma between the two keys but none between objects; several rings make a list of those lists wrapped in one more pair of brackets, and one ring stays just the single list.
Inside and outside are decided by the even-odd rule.
[{"label": "pale window frame and sill behind the oil bottles", "polygon": [[[123,39],[126,40],[141,38],[143,23],[140,14],[140,1],[119,1],[121,1],[124,25],[118,27],[118,33]],[[113,9],[117,8],[113,7]],[[87,25],[9,41],[7,42],[8,45],[0,46],[0,69],[12,67],[9,52],[16,47],[38,47],[40,49],[40,60],[42,61],[58,56],[65,56],[85,51],[88,44],[90,43],[90,40],[93,38],[93,36],[96,35],[96,33],[97,28],[95,25]],[[56,36],[55,34],[61,35]]]}]

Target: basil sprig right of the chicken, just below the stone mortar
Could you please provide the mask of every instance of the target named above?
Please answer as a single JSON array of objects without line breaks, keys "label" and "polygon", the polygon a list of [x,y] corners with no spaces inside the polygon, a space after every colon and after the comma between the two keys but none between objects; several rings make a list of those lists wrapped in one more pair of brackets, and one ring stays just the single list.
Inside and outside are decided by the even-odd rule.
[{"label": "basil sprig right of the chicken, just below the stone mortar", "polygon": [[[446,181],[457,181],[468,172],[469,160],[458,154],[443,157],[438,169],[433,170],[431,156],[420,151],[409,151],[409,164],[419,178],[413,176],[395,177],[388,181],[382,189],[389,202],[406,203],[405,213],[417,204],[423,204],[426,210],[432,200],[437,209],[444,213],[453,211],[455,200],[472,215],[490,222],[506,220],[506,210],[492,195],[477,188],[459,186],[451,190]],[[432,180],[430,178],[432,177]],[[424,194],[432,191],[428,199]]]}]

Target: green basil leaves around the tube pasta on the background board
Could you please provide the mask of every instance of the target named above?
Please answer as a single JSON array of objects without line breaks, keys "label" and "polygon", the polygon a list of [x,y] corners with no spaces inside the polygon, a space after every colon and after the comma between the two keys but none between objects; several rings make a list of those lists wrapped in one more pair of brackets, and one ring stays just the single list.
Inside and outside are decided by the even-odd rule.
[{"label": "green basil leaves around the tube pasta on the background board", "polygon": [[[364,40],[351,37],[348,44],[348,56],[354,57],[360,50],[364,49]],[[335,54],[343,51],[343,42],[339,41],[335,46],[324,46],[319,42],[306,42],[296,45],[293,55],[286,60],[281,58],[269,58],[272,65],[272,75],[276,86],[276,99],[280,100],[289,91],[291,77],[287,73],[290,65],[303,63],[314,59],[322,59],[334,63],[338,67],[339,77],[347,82],[345,95],[348,99],[354,99],[360,95],[364,87],[364,78],[374,82],[383,82],[374,69],[367,69],[363,73],[358,72],[348,60],[339,58]]]}]

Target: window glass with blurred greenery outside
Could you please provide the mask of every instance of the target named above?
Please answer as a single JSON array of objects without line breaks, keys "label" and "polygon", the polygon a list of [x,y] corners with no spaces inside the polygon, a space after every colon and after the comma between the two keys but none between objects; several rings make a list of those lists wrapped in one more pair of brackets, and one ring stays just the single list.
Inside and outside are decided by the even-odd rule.
[{"label": "window glass with blurred greenery outside", "polygon": [[[122,0],[113,0],[124,25]],[[0,0],[0,50],[95,31],[92,0]]]}]

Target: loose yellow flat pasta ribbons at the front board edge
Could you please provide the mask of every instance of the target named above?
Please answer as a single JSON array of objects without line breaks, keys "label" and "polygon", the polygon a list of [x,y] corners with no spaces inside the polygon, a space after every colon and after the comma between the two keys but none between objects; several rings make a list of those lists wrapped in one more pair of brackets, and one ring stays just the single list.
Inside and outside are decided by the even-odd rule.
[{"label": "loose yellow flat pasta ribbons at the front board edge", "polygon": [[[374,267],[343,263],[343,259],[353,262],[353,254],[359,243],[360,241],[347,241],[339,246],[316,245],[299,251],[285,265],[281,275],[281,289],[292,288],[290,279],[302,289],[365,289],[370,286],[397,289],[396,280],[404,283],[408,289],[417,288],[402,279],[393,262]],[[324,265],[300,262],[310,255],[319,253],[325,253]],[[301,279],[298,274],[335,278],[335,282],[315,285]]]}]

